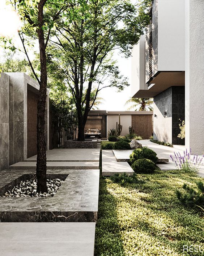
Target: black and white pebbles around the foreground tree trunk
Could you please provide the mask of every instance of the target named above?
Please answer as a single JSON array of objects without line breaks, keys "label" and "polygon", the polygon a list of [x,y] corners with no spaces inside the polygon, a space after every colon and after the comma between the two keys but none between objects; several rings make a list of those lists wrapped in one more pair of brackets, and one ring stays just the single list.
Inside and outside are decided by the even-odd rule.
[{"label": "black and white pebbles around the foreground tree trunk", "polygon": [[37,193],[37,180],[30,179],[26,181],[21,181],[20,184],[8,190],[4,193],[3,197],[27,197],[27,196],[54,196],[58,191],[59,187],[63,183],[60,179],[47,179],[47,193]]}]

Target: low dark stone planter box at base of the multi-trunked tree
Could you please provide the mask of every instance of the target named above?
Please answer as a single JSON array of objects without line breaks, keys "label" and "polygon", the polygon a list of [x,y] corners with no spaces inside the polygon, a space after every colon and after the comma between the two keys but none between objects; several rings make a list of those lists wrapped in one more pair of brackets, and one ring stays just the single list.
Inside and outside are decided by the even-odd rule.
[{"label": "low dark stone planter box at base of the multi-trunked tree", "polygon": [[69,140],[64,142],[65,149],[97,149],[97,139],[85,141]]}]

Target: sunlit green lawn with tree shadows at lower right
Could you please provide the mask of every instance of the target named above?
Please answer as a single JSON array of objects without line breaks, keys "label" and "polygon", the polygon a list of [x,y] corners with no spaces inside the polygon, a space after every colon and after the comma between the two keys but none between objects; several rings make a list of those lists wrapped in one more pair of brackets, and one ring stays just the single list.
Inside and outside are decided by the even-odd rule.
[{"label": "sunlit green lawn with tree shadows at lower right", "polygon": [[204,180],[179,171],[138,175],[137,184],[100,179],[95,256],[177,256],[183,245],[203,245],[201,212],[185,207],[175,195],[183,183]]}]

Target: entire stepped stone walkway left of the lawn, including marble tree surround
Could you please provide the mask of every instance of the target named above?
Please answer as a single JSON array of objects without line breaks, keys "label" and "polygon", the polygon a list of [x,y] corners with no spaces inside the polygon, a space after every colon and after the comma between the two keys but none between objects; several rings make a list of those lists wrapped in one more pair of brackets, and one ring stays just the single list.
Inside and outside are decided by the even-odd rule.
[{"label": "entire stepped stone walkway left of the lawn, including marble tree surround", "polygon": [[[68,174],[53,198],[36,198],[37,202],[31,198],[27,201],[25,198],[0,199],[0,210],[3,213],[0,218],[6,211],[9,218],[16,216],[16,222],[0,222],[0,255],[93,256],[98,214],[100,148],[98,145],[97,149],[47,151],[47,173]],[[12,164],[9,167],[12,170],[4,170],[1,175],[7,172],[7,181],[4,183],[8,183],[9,177],[18,180],[19,175],[34,174],[35,167],[36,156]],[[3,179],[0,180],[2,191],[1,186],[5,184],[2,183]],[[39,217],[41,221],[44,218],[47,222],[29,222],[29,212],[32,215],[32,211],[33,217],[37,218],[34,221],[39,221]],[[54,219],[50,219],[52,216]],[[27,222],[18,223],[24,217]]]}]

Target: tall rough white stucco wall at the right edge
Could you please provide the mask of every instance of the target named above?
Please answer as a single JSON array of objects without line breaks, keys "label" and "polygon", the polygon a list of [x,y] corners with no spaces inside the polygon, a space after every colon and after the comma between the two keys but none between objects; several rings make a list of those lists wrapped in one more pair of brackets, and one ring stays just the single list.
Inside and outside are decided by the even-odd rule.
[{"label": "tall rough white stucco wall at the right edge", "polygon": [[204,154],[204,1],[186,0],[185,143]]}]

